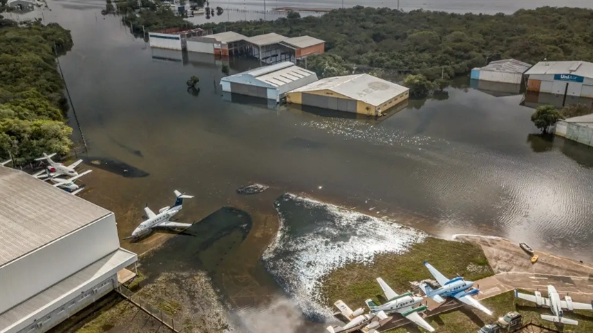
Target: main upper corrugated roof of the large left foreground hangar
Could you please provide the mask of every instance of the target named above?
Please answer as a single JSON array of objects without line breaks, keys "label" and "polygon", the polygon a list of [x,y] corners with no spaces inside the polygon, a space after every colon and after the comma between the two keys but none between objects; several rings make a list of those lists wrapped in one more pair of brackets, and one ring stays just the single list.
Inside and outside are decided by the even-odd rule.
[{"label": "main upper corrugated roof of the large left foreground hangar", "polygon": [[0,266],[108,214],[30,174],[0,166]]}]

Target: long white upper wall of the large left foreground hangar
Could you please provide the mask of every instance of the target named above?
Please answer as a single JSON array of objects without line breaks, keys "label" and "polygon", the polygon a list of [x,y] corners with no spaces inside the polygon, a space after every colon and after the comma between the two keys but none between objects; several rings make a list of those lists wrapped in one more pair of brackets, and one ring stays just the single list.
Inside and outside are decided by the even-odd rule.
[{"label": "long white upper wall of the large left foreground hangar", "polygon": [[113,213],[0,268],[0,313],[120,248]]}]

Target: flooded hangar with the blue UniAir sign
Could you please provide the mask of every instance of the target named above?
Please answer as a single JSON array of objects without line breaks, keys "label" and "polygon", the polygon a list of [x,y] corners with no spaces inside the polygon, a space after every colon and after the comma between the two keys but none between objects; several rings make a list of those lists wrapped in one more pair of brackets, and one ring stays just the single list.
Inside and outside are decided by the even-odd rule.
[{"label": "flooded hangar with the blue UniAir sign", "polygon": [[593,98],[593,63],[540,61],[525,75],[527,91]]}]

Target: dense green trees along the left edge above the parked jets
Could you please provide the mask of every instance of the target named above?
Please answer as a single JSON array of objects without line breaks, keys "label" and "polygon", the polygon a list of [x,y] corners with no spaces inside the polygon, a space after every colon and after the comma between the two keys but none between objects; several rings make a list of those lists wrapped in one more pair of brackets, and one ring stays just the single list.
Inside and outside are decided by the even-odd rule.
[{"label": "dense green trees along the left edge above the parked jets", "polygon": [[72,48],[70,32],[56,23],[38,21],[17,26],[0,15],[0,158],[17,165],[42,152],[64,154],[72,128],[64,83],[57,71],[58,54]]}]

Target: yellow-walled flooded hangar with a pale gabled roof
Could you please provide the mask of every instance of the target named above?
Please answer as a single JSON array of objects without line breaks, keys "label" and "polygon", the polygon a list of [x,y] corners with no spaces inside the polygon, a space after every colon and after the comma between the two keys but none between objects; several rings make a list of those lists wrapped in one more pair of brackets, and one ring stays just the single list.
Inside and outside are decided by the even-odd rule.
[{"label": "yellow-walled flooded hangar with a pale gabled roof", "polygon": [[380,116],[408,99],[409,89],[369,74],[328,77],[286,94],[288,103]]}]

